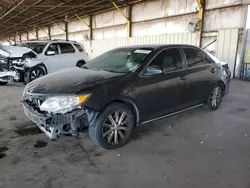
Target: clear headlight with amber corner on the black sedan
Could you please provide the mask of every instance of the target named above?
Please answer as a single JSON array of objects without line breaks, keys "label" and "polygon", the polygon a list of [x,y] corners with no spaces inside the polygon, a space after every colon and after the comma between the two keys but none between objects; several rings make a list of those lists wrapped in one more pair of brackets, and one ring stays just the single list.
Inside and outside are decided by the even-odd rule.
[{"label": "clear headlight with amber corner on the black sedan", "polygon": [[90,95],[82,96],[57,96],[48,98],[40,106],[40,110],[53,113],[66,113],[83,103]]}]

